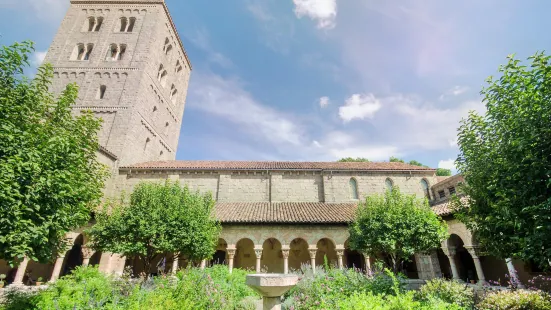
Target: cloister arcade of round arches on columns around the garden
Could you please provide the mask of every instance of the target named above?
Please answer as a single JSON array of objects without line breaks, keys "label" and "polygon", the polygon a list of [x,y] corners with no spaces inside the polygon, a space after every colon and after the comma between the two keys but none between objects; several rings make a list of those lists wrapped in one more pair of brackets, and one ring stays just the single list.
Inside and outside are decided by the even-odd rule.
[{"label": "cloister arcade of round arches on columns around the garden", "polygon": [[[430,254],[416,254],[404,266],[409,278],[453,278],[465,282],[486,283],[493,280],[506,284],[509,270],[505,261],[486,255],[466,227],[456,220],[448,220],[450,237],[441,248]],[[25,259],[19,268],[9,268],[0,262],[0,273],[8,275],[8,283],[32,284],[38,278],[55,281],[69,274],[77,266],[99,265],[107,273],[122,274],[125,267],[134,275],[143,271],[138,259],[125,259],[116,254],[94,252],[86,246],[83,234],[68,235],[67,251],[60,254],[54,264],[39,264]],[[264,273],[299,271],[304,265],[316,269],[327,264],[334,268],[371,270],[371,264],[381,257],[368,257],[350,248],[346,226],[224,226],[216,252],[210,261],[193,262],[194,266],[225,264],[233,268]],[[167,253],[154,262],[153,274],[176,272],[189,262],[175,259]],[[530,273],[522,262],[515,262],[521,280],[527,281]]]}]

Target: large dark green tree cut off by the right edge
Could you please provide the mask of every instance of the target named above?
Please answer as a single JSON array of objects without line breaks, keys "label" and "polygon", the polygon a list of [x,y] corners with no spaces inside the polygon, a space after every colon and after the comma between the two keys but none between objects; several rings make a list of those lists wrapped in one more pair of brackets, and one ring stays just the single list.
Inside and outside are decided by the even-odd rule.
[{"label": "large dark green tree cut off by the right edge", "polygon": [[486,251],[533,260],[551,257],[551,66],[537,53],[528,66],[508,57],[482,90],[485,115],[459,128],[458,170],[465,177],[458,217]]}]

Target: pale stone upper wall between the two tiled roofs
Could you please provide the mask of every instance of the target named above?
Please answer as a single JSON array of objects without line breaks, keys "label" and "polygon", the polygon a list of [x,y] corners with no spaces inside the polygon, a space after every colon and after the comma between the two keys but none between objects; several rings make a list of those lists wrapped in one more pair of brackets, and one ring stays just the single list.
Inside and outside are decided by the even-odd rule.
[{"label": "pale stone upper wall between the two tiled roofs", "polygon": [[194,190],[211,192],[220,202],[353,202],[349,181],[358,184],[360,200],[386,190],[385,181],[407,194],[424,197],[421,180],[433,184],[432,172],[296,172],[296,171],[131,171],[111,180],[113,194],[131,192],[141,181],[179,180]]}]

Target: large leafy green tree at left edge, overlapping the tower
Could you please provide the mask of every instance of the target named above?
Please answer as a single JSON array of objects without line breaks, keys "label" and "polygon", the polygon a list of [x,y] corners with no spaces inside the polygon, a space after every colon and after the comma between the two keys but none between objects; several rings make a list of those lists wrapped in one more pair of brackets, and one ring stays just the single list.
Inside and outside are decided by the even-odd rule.
[{"label": "large leafy green tree at left edge, overlapping the tower", "polygon": [[31,81],[33,43],[0,49],[0,259],[50,261],[71,229],[88,223],[107,176],[97,161],[101,122],[71,115],[69,84],[55,98],[48,64]]}]

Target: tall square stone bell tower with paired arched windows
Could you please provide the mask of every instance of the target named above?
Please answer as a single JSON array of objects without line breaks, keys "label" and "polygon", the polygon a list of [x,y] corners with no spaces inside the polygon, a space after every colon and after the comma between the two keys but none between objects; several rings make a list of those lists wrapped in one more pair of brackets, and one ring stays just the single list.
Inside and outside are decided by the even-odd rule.
[{"label": "tall square stone bell tower with paired arched windows", "polygon": [[54,92],[79,85],[75,114],[103,119],[118,166],[175,159],[191,63],[164,0],[71,0],[45,62]]}]

